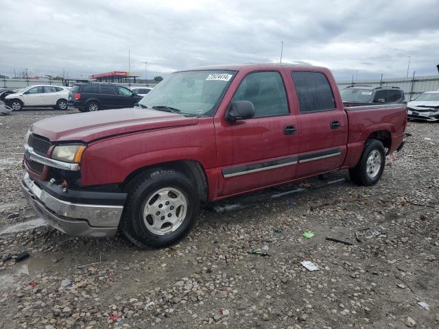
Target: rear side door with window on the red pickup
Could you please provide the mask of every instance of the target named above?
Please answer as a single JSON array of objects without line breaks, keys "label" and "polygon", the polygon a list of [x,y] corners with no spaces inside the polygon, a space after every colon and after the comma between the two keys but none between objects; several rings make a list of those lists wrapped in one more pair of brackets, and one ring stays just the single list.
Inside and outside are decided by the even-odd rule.
[{"label": "rear side door with window on the red pickup", "polygon": [[327,76],[318,71],[292,71],[292,78],[300,111],[297,177],[340,168],[348,123],[344,109],[337,108]]}]

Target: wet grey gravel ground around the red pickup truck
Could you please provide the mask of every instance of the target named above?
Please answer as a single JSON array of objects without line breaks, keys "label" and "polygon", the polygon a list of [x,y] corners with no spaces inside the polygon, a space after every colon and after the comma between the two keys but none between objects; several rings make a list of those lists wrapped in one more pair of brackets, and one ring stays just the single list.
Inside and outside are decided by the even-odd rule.
[{"label": "wet grey gravel ground around the red pickup truck", "polygon": [[[27,128],[73,112],[0,117],[1,328],[439,328],[438,125],[410,123],[376,186],[204,210],[180,244],[145,251],[38,226],[21,197]],[[30,257],[6,260],[19,252]]]}]

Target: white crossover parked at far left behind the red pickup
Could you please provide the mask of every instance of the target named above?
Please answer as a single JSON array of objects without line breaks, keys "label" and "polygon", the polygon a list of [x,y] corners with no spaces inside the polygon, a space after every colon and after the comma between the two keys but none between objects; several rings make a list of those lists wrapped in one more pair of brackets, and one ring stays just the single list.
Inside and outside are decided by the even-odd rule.
[{"label": "white crossover parked at far left behind the red pickup", "polygon": [[67,97],[69,91],[61,86],[36,85],[16,91],[5,97],[6,103],[12,110],[22,108],[48,107],[67,110]]}]

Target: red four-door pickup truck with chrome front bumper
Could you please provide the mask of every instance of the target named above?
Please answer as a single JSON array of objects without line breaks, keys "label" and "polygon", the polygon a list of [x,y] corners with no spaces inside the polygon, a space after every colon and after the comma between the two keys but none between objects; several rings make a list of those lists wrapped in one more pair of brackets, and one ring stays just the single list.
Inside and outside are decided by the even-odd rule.
[{"label": "red four-door pickup truck with chrome front bumper", "polygon": [[171,74],[136,108],[34,123],[21,186],[52,226],[176,243],[200,204],[349,169],[365,186],[401,149],[404,105],[344,108],[328,69],[248,64]]}]

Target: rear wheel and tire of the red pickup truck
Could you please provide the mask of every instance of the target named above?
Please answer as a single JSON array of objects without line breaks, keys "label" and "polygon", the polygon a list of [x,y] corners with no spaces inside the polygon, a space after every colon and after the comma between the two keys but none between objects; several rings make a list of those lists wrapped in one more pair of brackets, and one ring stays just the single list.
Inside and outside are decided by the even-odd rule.
[{"label": "rear wheel and tire of the red pickup truck", "polygon": [[349,169],[351,180],[359,185],[376,184],[385,167],[385,149],[377,139],[366,141],[363,154],[356,167]]}]

